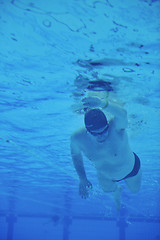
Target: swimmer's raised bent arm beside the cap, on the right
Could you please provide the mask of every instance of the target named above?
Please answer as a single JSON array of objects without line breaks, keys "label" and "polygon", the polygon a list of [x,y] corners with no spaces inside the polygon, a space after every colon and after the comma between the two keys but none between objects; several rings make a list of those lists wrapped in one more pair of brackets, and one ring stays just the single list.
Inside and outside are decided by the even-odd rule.
[{"label": "swimmer's raised bent arm beside the cap, on the right", "polygon": [[127,128],[127,111],[123,109],[118,103],[108,101],[107,105],[103,108],[103,110],[113,114],[114,122],[117,129]]}]

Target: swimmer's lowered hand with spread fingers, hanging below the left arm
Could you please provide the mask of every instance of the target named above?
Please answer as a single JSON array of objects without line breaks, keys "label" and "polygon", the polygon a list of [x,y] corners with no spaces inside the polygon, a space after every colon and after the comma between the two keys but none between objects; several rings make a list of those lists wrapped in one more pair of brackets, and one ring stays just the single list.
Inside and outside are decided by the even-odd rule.
[{"label": "swimmer's lowered hand with spread fingers, hanging below the left arm", "polygon": [[92,183],[90,183],[87,179],[80,180],[79,195],[84,199],[88,198],[89,188],[92,189]]}]

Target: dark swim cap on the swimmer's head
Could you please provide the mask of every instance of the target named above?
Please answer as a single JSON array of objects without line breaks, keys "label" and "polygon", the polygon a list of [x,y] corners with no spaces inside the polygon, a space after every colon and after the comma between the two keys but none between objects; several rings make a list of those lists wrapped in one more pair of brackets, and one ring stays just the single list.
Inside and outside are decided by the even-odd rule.
[{"label": "dark swim cap on the swimmer's head", "polygon": [[84,122],[86,129],[89,132],[98,130],[108,125],[107,118],[100,109],[91,109],[86,112]]}]

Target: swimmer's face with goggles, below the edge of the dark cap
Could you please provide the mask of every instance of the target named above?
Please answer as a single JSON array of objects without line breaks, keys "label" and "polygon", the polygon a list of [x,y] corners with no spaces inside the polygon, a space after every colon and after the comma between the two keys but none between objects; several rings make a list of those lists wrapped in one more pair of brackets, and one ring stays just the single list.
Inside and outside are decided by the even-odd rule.
[{"label": "swimmer's face with goggles, below the edge of the dark cap", "polygon": [[108,128],[109,125],[96,129],[94,131],[90,131],[90,134],[96,138],[96,140],[100,143],[104,142],[108,136]]}]

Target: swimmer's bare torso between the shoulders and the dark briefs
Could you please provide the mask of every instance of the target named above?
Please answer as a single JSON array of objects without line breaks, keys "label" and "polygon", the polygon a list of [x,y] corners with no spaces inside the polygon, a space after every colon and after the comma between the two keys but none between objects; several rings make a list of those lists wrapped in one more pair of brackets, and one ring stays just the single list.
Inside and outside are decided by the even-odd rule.
[{"label": "swimmer's bare torso between the shoulders and the dark briefs", "polygon": [[93,162],[98,175],[112,180],[119,180],[132,171],[134,155],[128,143],[125,130],[110,129],[102,143],[95,137],[81,130],[79,147],[84,155]]}]

